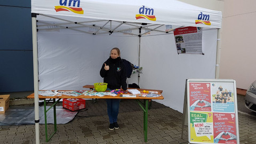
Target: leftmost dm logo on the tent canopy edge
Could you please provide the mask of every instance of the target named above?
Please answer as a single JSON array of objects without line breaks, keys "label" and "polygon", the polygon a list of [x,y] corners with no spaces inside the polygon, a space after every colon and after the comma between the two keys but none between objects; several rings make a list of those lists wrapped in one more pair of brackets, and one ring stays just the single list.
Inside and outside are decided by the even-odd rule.
[{"label": "leftmost dm logo on the tent canopy edge", "polygon": [[60,5],[55,6],[54,10],[56,12],[71,11],[77,14],[84,14],[84,10],[79,6],[80,6],[80,0],[60,0]]}]

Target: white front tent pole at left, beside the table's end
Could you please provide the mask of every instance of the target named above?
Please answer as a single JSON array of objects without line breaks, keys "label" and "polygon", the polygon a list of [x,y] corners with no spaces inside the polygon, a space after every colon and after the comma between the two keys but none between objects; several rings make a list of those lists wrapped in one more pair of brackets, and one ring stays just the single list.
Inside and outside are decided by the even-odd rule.
[{"label": "white front tent pole at left, beside the table's end", "polygon": [[39,138],[39,98],[38,98],[38,57],[37,57],[37,30],[36,17],[32,17],[32,38],[33,38],[33,67],[34,67],[34,94],[35,94],[35,135],[36,143],[40,143]]}]

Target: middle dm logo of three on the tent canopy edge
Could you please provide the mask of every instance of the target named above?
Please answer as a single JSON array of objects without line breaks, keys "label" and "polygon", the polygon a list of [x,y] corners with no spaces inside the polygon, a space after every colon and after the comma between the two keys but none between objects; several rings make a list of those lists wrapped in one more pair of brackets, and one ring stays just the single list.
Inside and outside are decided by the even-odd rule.
[{"label": "middle dm logo of three on the tent canopy edge", "polygon": [[139,14],[135,14],[135,18],[138,19],[148,19],[151,21],[156,21],[156,17],[154,15],[154,9],[150,9],[142,5],[139,9]]}]

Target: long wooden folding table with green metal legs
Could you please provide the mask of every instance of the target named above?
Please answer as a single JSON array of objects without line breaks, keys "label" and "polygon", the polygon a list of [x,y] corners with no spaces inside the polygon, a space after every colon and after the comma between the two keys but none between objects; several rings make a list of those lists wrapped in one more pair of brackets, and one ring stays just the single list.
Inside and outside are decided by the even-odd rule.
[{"label": "long wooden folding table with green metal legs", "polygon": [[[90,87],[87,87],[90,88]],[[151,90],[151,89],[138,89],[139,91],[143,91],[143,90],[148,90],[148,91],[157,91],[158,94],[161,94],[161,90]],[[72,90],[71,90],[72,91]],[[161,93],[160,93],[161,92]],[[130,94],[130,93],[127,93]],[[28,95],[27,98],[34,98],[34,93]],[[70,95],[61,95],[61,96],[43,96],[43,95],[38,95],[39,99],[44,99],[44,119],[45,119],[45,138],[46,138],[46,142],[48,142],[52,136],[57,132],[57,118],[56,118],[56,104],[61,100],[61,99],[135,99],[138,101],[139,106],[142,108],[143,110],[143,132],[144,132],[144,139],[145,142],[147,142],[147,134],[148,134],[148,101],[152,100],[152,99],[164,99],[163,95],[161,95],[160,97],[141,97],[140,94],[136,94],[136,97],[120,97],[120,94],[118,94],[117,96],[113,97],[111,95],[104,95],[103,97],[99,97],[99,96],[89,96],[89,95],[79,95],[77,97],[74,96],[70,96]],[[52,106],[50,106],[50,108],[46,109],[46,99],[53,99],[53,104]],[[55,99],[58,99],[57,101]],[[50,135],[50,137],[48,138],[47,135],[47,111],[49,111],[51,108],[53,107],[53,115],[54,115],[54,132]]]}]

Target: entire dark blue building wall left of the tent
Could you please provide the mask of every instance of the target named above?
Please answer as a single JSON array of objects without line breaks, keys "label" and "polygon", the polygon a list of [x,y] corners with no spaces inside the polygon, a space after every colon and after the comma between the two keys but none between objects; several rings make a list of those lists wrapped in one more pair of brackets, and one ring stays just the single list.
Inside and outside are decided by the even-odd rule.
[{"label": "entire dark blue building wall left of the tent", "polygon": [[34,90],[30,5],[0,1],[0,92]]}]

